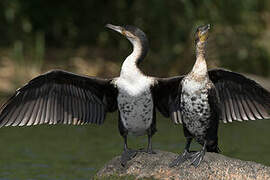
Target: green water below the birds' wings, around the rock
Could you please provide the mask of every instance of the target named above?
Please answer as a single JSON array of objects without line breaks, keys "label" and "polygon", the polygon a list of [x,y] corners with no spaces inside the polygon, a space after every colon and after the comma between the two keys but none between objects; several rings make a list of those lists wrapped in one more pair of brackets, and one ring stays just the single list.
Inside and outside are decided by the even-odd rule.
[{"label": "green water below the birds' wings, around the rock", "polygon": [[[120,155],[123,140],[116,114],[103,126],[8,127],[0,131],[0,178],[6,179],[89,179],[104,163]],[[182,127],[158,116],[154,149],[179,153],[185,145]],[[222,154],[270,165],[270,121],[221,124]],[[141,148],[147,138],[129,137],[129,146]],[[192,149],[201,148],[197,143]]]}]

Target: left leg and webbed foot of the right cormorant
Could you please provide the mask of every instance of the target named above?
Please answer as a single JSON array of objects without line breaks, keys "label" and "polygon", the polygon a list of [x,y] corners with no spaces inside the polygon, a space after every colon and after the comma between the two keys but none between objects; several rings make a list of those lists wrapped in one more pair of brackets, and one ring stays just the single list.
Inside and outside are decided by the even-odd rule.
[{"label": "left leg and webbed foot of the right cormorant", "polygon": [[176,159],[174,159],[169,164],[169,167],[178,166],[179,164],[184,163],[186,160],[188,160],[188,159],[190,159],[192,157],[192,154],[194,154],[194,152],[189,151],[191,141],[192,141],[192,138],[187,138],[187,142],[186,142],[184,152],[181,155],[179,155]]}]

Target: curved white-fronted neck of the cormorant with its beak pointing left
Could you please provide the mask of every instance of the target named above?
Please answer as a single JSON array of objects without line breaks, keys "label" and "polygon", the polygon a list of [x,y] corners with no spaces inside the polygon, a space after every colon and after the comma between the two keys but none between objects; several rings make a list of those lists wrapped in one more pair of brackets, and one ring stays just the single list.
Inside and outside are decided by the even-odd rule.
[{"label": "curved white-fronted neck of the cormorant with its beak pointing left", "polygon": [[133,51],[122,64],[120,76],[136,78],[136,75],[142,74],[138,68],[138,64],[146,56],[148,47],[139,40],[131,41],[131,43],[133,45]]}]

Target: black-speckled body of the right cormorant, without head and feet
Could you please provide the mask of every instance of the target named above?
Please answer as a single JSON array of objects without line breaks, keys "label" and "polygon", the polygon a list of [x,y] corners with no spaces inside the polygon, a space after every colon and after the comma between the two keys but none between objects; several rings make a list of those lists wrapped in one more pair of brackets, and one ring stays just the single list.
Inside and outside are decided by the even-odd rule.
[{"label": "black-speckled body of the right cormorant, without head and feet", "polygon": [[[181,114],[186,137],[194,138],[208,151],[217,152],[219,100],[207,73],[204,56],[198,55],[192,71],[181,81]],[[214,102],[214,103],[213,103]]]}]

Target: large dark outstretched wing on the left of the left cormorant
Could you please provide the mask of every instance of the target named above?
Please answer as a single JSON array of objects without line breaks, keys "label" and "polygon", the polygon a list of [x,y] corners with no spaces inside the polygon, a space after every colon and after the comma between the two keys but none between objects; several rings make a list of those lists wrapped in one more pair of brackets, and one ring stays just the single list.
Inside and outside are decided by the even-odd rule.
[{"label": "large dark outstretched wing on the left of the left cormorant", "polygon": [[102,124],[117,109],[112,80],[53,70],[18,89],[0,109],[0,127]]}]

